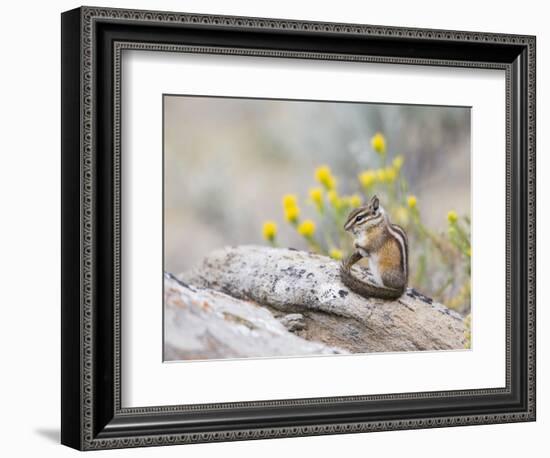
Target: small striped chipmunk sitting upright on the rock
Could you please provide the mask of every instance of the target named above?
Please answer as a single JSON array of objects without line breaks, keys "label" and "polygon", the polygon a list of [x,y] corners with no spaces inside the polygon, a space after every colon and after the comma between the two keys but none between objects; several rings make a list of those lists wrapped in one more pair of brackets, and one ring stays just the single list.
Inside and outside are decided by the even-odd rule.
[{"label": "small striped chipmunk sitting upright on the rock", "polygon": [[[407,235],[401,227],[390,222],[378,197],[373,196],[366,206],[353,210],[344,229],[353,234],[355,251],[342,261],[343,283],[364,297],[400,297],[407,288],[409,276]],[[351,273],[351,267],[363,258],[368,259],[369,269],[378,284],[360,280]]]}]

